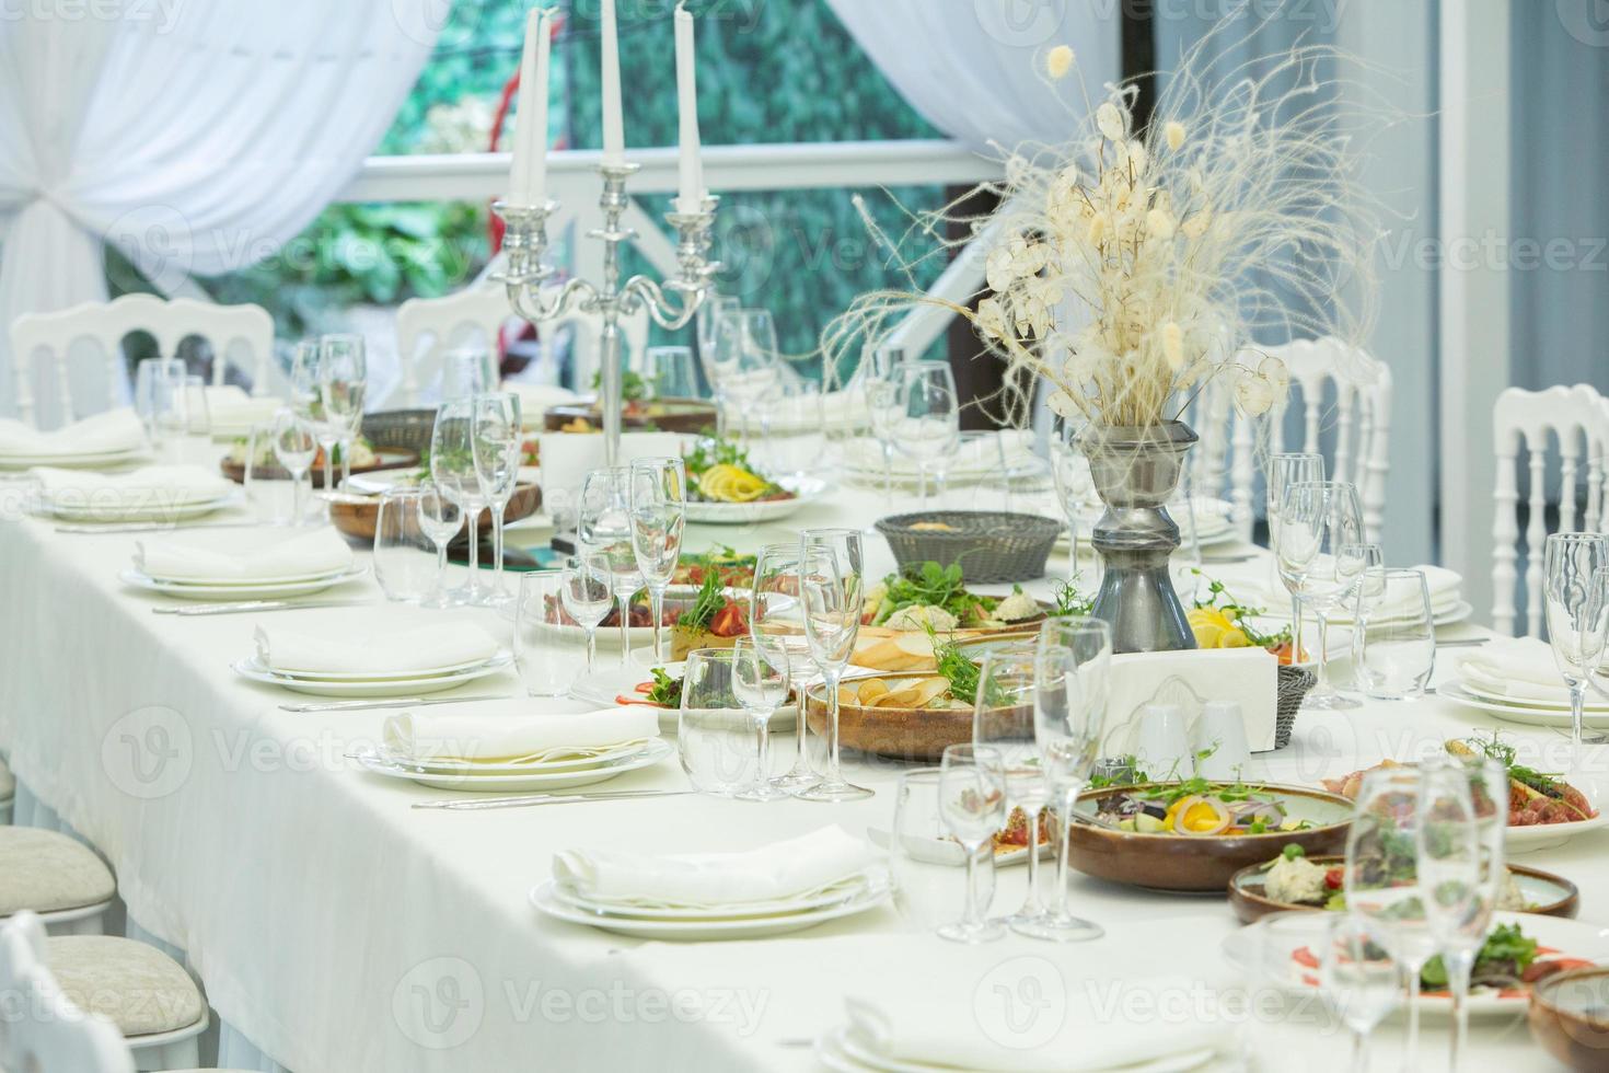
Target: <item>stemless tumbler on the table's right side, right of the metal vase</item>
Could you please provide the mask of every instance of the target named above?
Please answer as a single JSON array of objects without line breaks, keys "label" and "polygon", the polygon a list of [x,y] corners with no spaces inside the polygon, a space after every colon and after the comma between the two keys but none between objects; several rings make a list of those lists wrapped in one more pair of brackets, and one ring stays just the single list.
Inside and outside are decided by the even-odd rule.
[{"label": "stemless tumbler on the table's right side, right of the metal vase", "polygon": [[1424,571],[1368,568],[1358,582],[1352,672],[1368,697],[1424,695],[1435,671],[1435,626]]}]

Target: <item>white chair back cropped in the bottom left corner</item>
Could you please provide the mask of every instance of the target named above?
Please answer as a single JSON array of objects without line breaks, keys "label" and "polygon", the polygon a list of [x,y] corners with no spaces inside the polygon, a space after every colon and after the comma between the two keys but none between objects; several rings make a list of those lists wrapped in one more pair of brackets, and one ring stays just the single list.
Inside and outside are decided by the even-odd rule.
[{"label": "white chair back cropped in the bottom left corner", "polygon": [[45,925],[32,912],[0,920],[0,1068],[14,1073],[134,1073],[122,1033],[84,1013],[45,964]]}]

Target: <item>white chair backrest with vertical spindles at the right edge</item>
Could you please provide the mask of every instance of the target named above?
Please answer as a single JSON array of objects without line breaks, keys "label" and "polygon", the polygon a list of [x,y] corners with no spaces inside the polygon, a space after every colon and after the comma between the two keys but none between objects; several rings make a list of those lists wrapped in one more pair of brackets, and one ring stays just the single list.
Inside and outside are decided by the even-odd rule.
[{"label": "white chair backrest with vertical spindles at the right edge", "polygon": [[[1559,454],[1558,532],[1603,531],[1609,475],[1609,401],[1590,384],[1545,391],[1508,388],[1492,405],[1492,442],[1496,450],[1496,487],[1492,520],[1492,627],[1500,634],[1541,637],[1541,549],[1548,539],[1548,446]],[[1519,581],[1519,452],[1527,452],[1525,500],[1525,621],[1517,621],[1514,584]],[[1583,465],[1585,463],[1585,465]],[[1577,516],[1580,486],[1585,510]],[[1524,626],[1524,629],[1521,629]]]}]

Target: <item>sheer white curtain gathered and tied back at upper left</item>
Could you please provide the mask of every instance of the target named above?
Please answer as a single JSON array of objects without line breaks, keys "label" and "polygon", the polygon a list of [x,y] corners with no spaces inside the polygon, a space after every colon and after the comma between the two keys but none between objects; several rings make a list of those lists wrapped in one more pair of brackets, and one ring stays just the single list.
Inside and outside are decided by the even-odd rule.
[{"label": "sheer white curtain gathered and tied back at upper left", "polygon": [[0,21],[0,328],[103,301],[105,243],[164,290],[274,254],[385,135],[449,5],[26,5]]}]

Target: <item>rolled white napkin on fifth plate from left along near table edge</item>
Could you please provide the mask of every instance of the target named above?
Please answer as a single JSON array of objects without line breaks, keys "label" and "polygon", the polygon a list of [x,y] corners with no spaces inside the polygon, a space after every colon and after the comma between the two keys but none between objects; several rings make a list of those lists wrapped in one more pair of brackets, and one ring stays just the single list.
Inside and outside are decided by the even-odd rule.
[{"label": "rolled white napkin on fifth plate from left along near table edge", "polygon": [[381,729],[381,742],[397,756],[470,764],[582,759],[656,737],[660,716],[652,708],[533,714],[523,698],[447,714],[404,711]]}]

